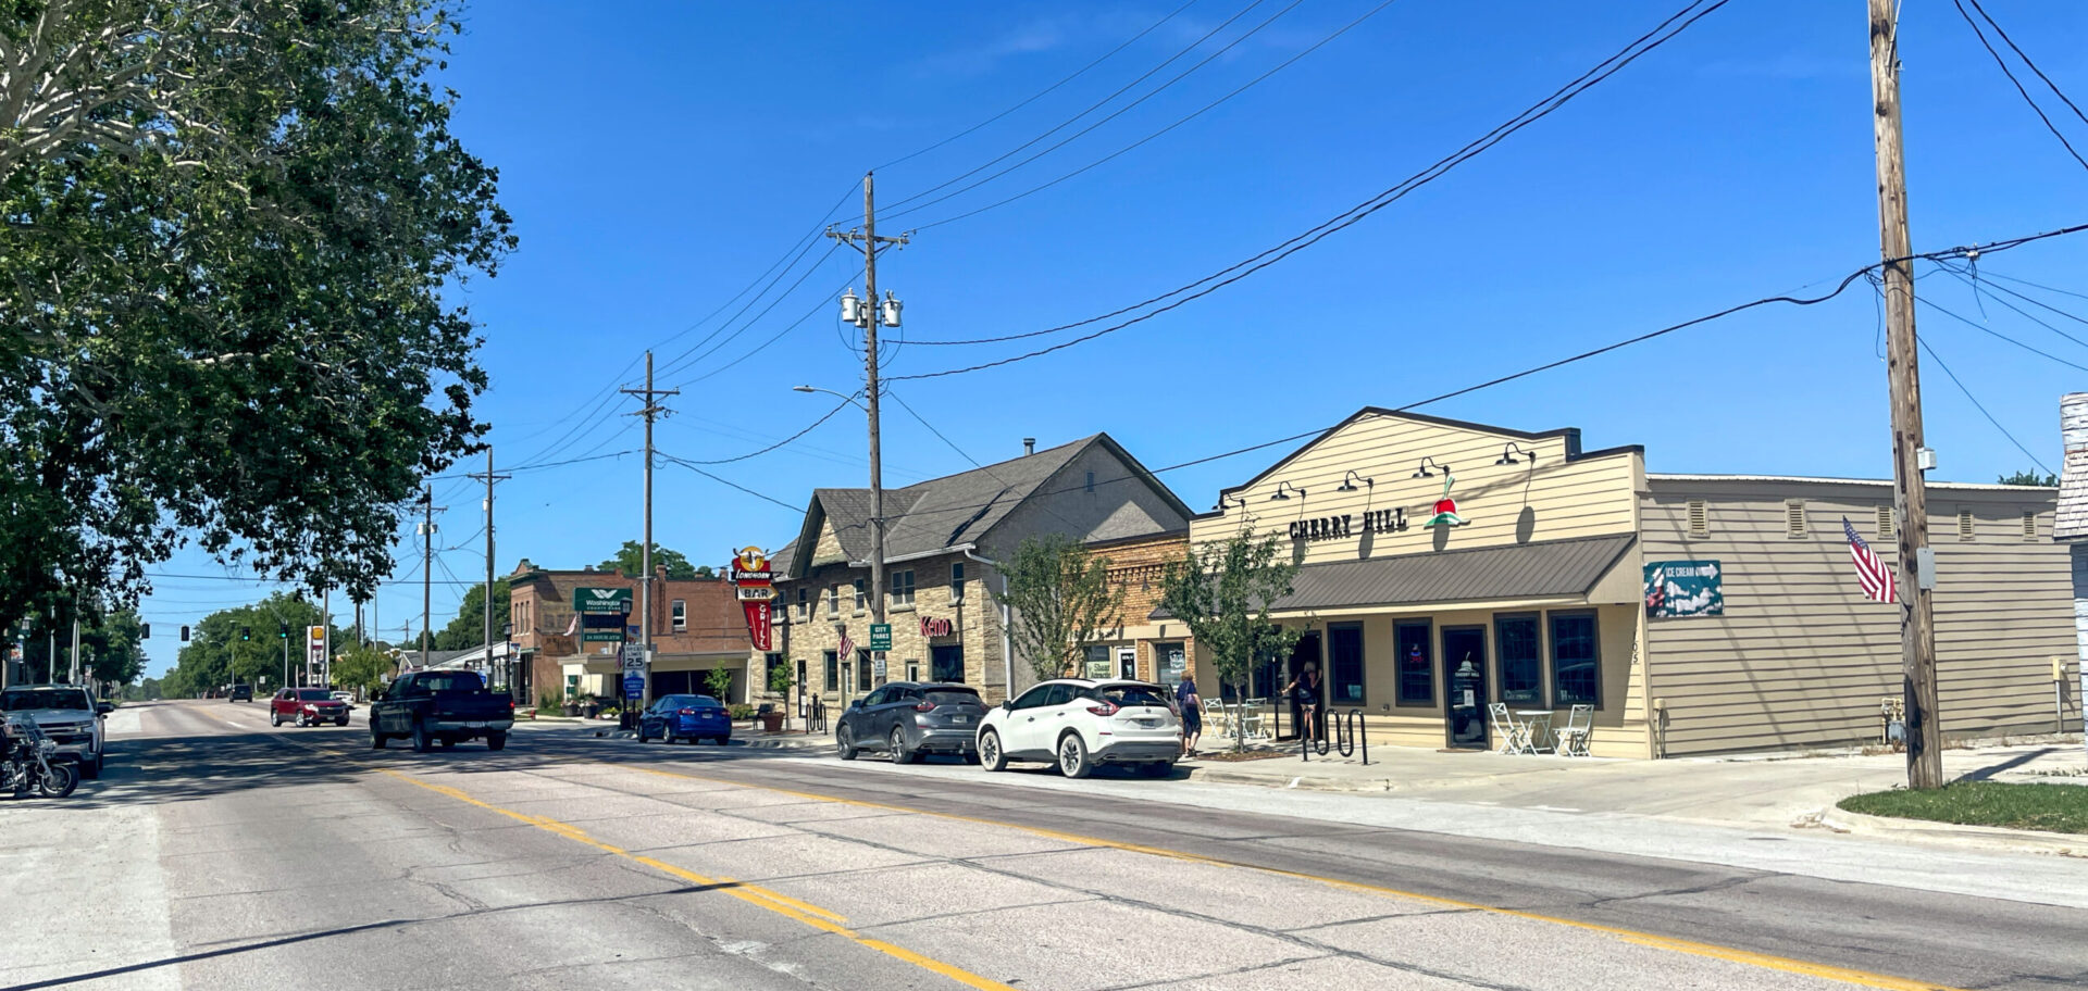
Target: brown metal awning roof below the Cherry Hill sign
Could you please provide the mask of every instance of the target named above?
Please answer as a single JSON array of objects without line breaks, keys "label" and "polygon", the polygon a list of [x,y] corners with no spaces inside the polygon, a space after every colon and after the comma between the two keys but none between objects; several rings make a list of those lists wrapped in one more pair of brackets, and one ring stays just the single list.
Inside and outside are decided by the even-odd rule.
[{"label": "brown metal awning roof below the Cherry Hill sign", "polygon": [[[1272,611],[1585,597],[1624,557],[1633,534],[1576,536],[1299,567]],[[1155,609],[1153,620],[1167,620]]]}]

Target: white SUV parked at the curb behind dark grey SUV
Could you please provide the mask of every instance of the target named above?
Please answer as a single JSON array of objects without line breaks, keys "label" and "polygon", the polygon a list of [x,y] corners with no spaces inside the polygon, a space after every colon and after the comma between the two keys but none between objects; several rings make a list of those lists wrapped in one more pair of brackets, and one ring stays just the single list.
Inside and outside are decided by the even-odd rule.
[{"label": "white SUV parked at the curb behind dark grey SUV", "polygon": [[1057,764],[1067,778],[1086,778],[1098,764],[1163,776],[1182,759],[1182,720],[1159,684],[1050,680],[979,722],[979,764],[1004,770],[1009,759]]}]

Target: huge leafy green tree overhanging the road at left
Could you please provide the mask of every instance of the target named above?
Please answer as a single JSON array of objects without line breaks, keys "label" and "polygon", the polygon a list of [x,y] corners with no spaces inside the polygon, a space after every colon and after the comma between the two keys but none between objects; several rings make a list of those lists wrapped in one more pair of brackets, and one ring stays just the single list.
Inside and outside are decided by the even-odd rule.
[{"label": "huge leafy green tree overhanging the road at left", "polygon": [[188,540],[359,597],[390,572],[420,480],[482,432],[480,340],[445,294],[514,248],[428,81],[451,6],[0,15],[10,65],[81,73],[86,121],[0,102],[0,618],[134,601]]}]

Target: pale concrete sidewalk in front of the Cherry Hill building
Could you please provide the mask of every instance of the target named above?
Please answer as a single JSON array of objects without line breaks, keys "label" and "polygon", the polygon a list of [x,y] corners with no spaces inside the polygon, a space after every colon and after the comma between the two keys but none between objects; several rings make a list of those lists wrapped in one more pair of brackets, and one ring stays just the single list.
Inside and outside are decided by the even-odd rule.
[{"label": "pale concrete sidewalk in front of the Cherry Hill building", "polygon": [[[1192,780],[1213,784],[1378,793],[1466,805],[1618,812],[1781,828],[1837,828],[1831,822],[1837,801],[1906,782],[1906,757],[1900,753],[1654,762],[1372,747],[1368,766],[1361,764],[1361,755],[1315,753],[1311,759],[1299,759],[1295,747],[1282,753],[1247,762],[1188,759],[1182,768],[1190,770]],[[1944,772],[1952,780],[2088,784],[2088,759],[2078,739],[1950,749],[1944,751]],[[1829,822],[1823,822],[1823,814]],[[2088,849],[2088,837],[2075,847]]]}]

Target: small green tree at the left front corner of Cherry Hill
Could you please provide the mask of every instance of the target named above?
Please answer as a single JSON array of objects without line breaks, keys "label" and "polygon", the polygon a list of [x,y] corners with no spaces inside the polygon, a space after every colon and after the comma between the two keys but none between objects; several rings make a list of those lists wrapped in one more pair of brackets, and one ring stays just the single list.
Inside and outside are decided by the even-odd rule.
[{"label": "small green tree at the left front corner of Cherry Hill", "polygon": [[[1224,542],[1190,547],[1161,576],[1161,607],[1188,626],[1196,647],[1211,655],[1217,678],[1247,697],[1255,659],[1282,657],[1297,647],[1299,630],[1270,620],[1270,605],[1290,595],[1299,567],[1270,534],[1257,540],[1238,532]],[[1232,747],[1244,749],[1244,726],[1234,724]]]}]

